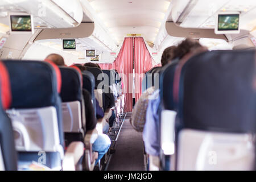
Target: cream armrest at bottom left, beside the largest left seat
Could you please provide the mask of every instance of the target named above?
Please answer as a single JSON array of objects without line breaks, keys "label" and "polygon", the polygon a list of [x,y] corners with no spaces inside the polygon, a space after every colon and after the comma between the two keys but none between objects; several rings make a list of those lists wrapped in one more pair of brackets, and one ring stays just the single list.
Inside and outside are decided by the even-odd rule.
[{"label": "cream armrest at bottom left, beside the largest left seat", "polygon": [[72,142],[69,144],[63,159],[63,171],[75,171],[76,165],[84,155],[84,143]]}]

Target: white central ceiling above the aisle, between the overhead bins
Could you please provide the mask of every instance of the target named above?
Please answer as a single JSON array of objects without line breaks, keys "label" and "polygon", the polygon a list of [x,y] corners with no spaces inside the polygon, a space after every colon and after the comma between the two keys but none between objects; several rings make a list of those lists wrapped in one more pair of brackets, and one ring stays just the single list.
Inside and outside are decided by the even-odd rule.
[{"label": "white central ceiling above the aisle, between the overhead bins", "polygon": [[88,0],[118,44],[127,34],[141,34],[151,44],[166,22],[170,0]]}]

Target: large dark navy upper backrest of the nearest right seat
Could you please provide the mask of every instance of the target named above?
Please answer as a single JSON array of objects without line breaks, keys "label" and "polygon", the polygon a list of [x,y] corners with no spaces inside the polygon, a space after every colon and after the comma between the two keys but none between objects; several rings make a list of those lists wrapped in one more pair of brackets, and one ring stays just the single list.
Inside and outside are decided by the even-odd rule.
[{"label": "large dark navy upper backrest of the nearest right seat", "polygon": [[254,130],[255,56],[255,51],[211,51],[188,59],[179,81],[181,125],[233,133]]}]

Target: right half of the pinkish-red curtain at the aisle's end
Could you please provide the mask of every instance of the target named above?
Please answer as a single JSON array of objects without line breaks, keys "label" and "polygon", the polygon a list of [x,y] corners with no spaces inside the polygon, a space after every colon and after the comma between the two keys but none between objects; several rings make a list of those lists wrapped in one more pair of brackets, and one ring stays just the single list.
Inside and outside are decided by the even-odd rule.
[{"label": "right half of the pinkish-red curtain at the aisle's end", "polygon": [[152,68],[152,57],[143,38],[134,38],[135,101],[142,94],[143,73]]}]

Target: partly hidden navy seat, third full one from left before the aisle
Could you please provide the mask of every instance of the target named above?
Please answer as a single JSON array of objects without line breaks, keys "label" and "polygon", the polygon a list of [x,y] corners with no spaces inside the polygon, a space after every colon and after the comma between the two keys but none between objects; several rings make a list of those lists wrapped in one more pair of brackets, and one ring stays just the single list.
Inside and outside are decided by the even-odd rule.
[{"label": "partly hidden navy seat, third full one from left before the aisle", "polygon": [[[92,97],[93,108],[96,111],[96,98],[94,95],[95,78],[91,72],[82,71],[82,88],[86,89]],[[96,112],[95,116],[96,116]]]}]

